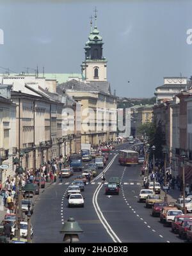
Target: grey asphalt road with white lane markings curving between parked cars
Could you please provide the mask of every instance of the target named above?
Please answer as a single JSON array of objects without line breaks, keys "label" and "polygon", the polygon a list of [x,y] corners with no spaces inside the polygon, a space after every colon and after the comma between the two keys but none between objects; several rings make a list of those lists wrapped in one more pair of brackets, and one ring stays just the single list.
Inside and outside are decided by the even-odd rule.
[{"label": "grey asphalt road with white lane markings curving between parked cars", "polygon": [[[127,145],[118,145],[118,148],[127,148]],[[99,177],[93,180],[92,184],[85,186],[82,192],[85,197],[84,207],[68,208],[67,187],[80,172],[63,179],[62,184],[52,184],[35,202],[35,211],[31,217],[33,243],[62,243],[62,223],[70,216],[78,221],[84,231],[79,235],[81,243],[183,242],[172,234],[170,228],[159,223],[159,218],[150,216],[151,210],[146,209],[145,204],[138,203],[137,196],[143,184],[140,166],[120,166],[117,154],[117,149],[111,152],[109,166],[106,166],[105,170],[106,180],[109,177],[120,177],[122,180],[120,195],[104,195],[105,188],[99,184]],[[86,164],[88,163],[84,163],[84,169]]]}]

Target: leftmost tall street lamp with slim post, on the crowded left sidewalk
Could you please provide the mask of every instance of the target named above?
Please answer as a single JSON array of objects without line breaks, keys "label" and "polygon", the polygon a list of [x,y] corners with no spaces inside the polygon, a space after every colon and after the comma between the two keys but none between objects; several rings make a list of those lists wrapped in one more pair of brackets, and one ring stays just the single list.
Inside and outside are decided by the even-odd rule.
[{"label": "leftmost tall street lamp with slim post, on the crowded left sidewalk", "polygon": [[[24,170],[21,166],[17,167],[15,170],[16,174],[16,180],[15,180],[15,186],[17,191],[17,200],[15,202],[15,214],[16,214],[16,236],[17,239],[20,241],[20,220],[22,218],[22,211],[21,211],[21,198],[22,198],[22,191],[21,191],[21,182],[20,182],[20,175],[24,173]],[[18,189],[18,177],[19,177],[19,189]]]}]

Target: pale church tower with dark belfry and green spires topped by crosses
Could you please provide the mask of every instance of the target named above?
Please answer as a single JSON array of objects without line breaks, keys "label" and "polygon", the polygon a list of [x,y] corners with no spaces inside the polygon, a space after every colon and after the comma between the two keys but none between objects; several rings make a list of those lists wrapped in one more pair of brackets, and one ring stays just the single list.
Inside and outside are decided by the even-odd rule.
[{"label": "pale church tower with dark belfry and green spires topped by crosses", "polygon": [[81,72],[86,82],[106,82],[107,81],[107,60],[102,56],[102,36],[97,29],[97,9],[95,8],[95,26],[91,31],[88,41],[85,44],[85,60],[81,65]]}]

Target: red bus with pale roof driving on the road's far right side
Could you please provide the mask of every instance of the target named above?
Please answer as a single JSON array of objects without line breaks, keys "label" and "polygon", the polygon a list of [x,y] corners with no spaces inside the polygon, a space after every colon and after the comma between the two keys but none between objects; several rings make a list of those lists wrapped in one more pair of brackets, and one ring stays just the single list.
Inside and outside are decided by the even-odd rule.
[{"label": "red bus with pale roof driving on the road's far right side", "polygon": [[138,164],[138,152],[132,150],[120,150],[118,162],[122,165]]}]

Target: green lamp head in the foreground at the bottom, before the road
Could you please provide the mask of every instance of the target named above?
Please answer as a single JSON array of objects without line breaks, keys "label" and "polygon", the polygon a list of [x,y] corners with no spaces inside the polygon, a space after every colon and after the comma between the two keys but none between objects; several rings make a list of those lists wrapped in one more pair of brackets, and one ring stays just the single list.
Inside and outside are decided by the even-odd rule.
[{"label": "green lamp head in the foreground at the bottom, before the road", "polygon": [[64,242],[77,242],[79,241],[78,234],[83,233],[81,227],[79,227],[79,223],[74,220],[74,218],[68,218],[67,222],[65,222],[60,231],[61,234],[65,234],[63,237]]}]

